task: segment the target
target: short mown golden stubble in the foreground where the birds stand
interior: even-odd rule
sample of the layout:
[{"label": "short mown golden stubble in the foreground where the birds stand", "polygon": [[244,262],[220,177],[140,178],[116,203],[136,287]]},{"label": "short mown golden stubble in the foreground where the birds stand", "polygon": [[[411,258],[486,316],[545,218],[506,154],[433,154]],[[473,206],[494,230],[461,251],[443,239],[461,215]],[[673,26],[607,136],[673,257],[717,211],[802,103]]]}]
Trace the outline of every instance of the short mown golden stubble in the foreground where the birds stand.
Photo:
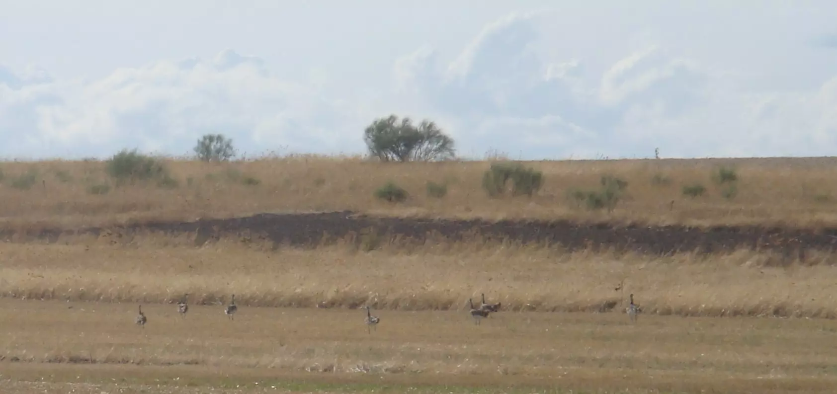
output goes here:
[{"label": "short mown golden stubble in the foreground where the birds stand", "polygon": [[629,325],[616,314],[501,312],[477,326],[464,311],[381,310],[369,335],[361,310],[245,307],[234,321],[221,306],[194,306],[185,319],[173,305],[143,310],[145,329],[133,325],[136,304],[0,300],[0,374],[10,378],[3,392],[276,386],[276,392],[784,394],[837,386],[833,320],[650,315]]}]

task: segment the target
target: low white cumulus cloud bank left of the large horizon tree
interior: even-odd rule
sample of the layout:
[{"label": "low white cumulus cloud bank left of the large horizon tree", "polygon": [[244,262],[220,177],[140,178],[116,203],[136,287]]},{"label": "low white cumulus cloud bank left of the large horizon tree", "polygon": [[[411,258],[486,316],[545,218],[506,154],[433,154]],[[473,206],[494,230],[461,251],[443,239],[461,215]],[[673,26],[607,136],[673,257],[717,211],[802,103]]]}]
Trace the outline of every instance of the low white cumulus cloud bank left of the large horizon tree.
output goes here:
[{"label": "low white cumulus cloud bank left of the large horizon tree", "polygon": [[355,135],[367,118],[229,49],[210,60],[116,69],[90,82],[0,73],[0,127],[12,131],[3,133],[7,156],[106,156],[133,147],[187,154],[210,132],[251,153],[360,151]]}]

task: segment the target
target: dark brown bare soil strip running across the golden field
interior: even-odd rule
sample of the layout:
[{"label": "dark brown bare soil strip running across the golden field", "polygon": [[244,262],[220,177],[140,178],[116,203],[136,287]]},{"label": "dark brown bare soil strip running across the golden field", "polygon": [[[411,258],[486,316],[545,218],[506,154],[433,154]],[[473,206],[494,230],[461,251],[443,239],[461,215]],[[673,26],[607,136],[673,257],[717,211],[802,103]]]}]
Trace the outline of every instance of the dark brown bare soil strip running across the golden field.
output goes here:
[{"label": "dark brown bare soil strip running across the golden field", "polygon": [[[345,238],[357,234],[357,242],[399,238],[402,242],[424,242],[427,238],[466,240],[479,235],[483,239],[506,239],[522,243],[548,243],[578,249],[611,249],[650,254],[676,252],[716,253],[737,248],[772,250],[788,258],[805,259],[805,251],[830,251],[837,245],[837,229],[813,230],[762,227],[716,227],[709,229],[684,226],[628,226],[579,224],[567,221],[502,221],[454,219],[416,219],[369,217],[352,212],[327,213],[264,213],[232,219],[209,219],[187,223],[142,223],[117,228],[83,228],[79,230],[39,230],[17,233],[0,229],[0,239],[21,236],[28,239],[58,240],[63,234],[100,235],[105,231],[130,235],[136,231],[163,233],[196,233],[196,244],[211,242],[223,236],[266,238],[276,245],[314,246],[323,238]],[[17,234],[16,234],[17,233]],[[363,241],[362,239],[366,239]]]}]

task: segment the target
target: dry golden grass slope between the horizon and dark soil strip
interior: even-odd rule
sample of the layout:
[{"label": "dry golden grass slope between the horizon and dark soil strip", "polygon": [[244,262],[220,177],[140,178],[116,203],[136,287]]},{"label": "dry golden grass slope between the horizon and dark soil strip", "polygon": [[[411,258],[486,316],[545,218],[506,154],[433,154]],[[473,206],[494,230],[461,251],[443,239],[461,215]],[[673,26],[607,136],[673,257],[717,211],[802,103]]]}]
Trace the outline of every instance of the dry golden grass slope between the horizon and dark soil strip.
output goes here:
[{"label": "dry golden grass slope between the horizon and dark soil strip", "polygon": [[[352,158],[292,156],[208,164],[168,160],[179,186],[111,187],[105,195],[90,187],[112,183],[99,161],[6,162],[0,186],[0,217],[6,226],[78,226],[128,220],[192,220],[254,212],[355,210],[397,216],[534,217],[634,223],[779,224],[822,227],[837,224],[837,192],[830,158],[747,160],[536,161],[545,185],[530,198],[490,199],[481,188],[486,161],[374,163]],[[735,166],[737,197],[721,197],[711,181],[717,166]],[[13,187],[32,172],[28,190]],[[570,201],[573,189],[598,187],[604,174],[629,182],[629,197],[612,213],[590,212]],[[670,179],[655,185],[656,175]],[[252,178],[258,185],[247,185]],[[410,193],[408,202],[377,201],[373,192],[388,180]],[[426,182],[447,182],[448,195],[427,197]],[[696,182],[706,196],[684,197]],[[252,183],[252,182],[251,182]],[[671,202],[674,201],[672,206]]]}]

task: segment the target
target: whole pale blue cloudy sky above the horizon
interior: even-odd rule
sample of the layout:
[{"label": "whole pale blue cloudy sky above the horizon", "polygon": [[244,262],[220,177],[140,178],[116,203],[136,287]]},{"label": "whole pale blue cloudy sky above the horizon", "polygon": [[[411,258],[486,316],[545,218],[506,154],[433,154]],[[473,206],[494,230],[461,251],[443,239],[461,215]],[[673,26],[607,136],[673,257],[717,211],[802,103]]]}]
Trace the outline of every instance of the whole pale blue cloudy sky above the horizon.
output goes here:
[{"label": "whole pale blue cloudy sky above the horizon", "polygon": [[0,157],[360,154],[390,114],[515,159],[831,156],[837,2],[0,0]]}]

